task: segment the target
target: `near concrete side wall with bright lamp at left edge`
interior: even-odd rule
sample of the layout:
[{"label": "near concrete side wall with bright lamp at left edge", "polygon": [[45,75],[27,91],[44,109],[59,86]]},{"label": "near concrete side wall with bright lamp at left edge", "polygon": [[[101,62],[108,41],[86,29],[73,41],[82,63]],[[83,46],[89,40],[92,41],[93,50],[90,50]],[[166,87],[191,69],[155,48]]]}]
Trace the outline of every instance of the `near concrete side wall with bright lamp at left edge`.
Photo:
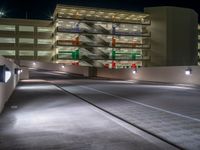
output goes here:
[{"label": "near concrete side wall with bright lamp at left edge", "polygon": [[0,65],[6,65],[11,71],[11,78],[8,80],[8,82],[7,83],[0,82],[0,113],[1,113],[4,104],[9,99],[10,95],[14,91],[19,81],[19,75],[15,74],[15,68],[18,68],[18,66],[2,56],[0,56]]}]

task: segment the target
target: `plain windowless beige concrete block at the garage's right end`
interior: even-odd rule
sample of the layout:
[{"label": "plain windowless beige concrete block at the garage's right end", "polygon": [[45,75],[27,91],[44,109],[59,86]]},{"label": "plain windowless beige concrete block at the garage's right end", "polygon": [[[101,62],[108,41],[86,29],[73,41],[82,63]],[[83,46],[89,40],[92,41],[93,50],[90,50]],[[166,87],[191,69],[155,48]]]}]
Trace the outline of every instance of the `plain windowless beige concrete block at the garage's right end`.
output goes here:
[{"label": "plain windowless beige concrete block at the garage's right end", "polygon": [[149,66],[197,65],[198,14],[186,8],[149,7],[151,63]]}]

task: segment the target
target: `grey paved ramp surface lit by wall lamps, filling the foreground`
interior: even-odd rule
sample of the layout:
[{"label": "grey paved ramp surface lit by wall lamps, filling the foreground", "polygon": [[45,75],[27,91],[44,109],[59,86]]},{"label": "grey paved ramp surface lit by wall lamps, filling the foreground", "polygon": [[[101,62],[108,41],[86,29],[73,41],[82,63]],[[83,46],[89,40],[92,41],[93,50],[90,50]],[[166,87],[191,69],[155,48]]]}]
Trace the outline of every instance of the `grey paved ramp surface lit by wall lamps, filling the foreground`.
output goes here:
[{"label": "grey paved ramp surface lit by wall lamps, filling the foreground", "polygon": [[200,149],[197,87],[31,77],[0,116],[0,149]]}]

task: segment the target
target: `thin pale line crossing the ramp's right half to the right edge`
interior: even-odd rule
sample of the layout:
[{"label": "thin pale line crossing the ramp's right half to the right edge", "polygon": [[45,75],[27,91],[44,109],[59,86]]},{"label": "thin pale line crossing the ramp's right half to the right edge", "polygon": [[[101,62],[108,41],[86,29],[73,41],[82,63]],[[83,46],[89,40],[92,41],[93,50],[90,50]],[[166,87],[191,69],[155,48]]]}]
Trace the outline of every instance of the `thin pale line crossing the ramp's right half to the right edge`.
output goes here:
[{"label": "thin pale line crossing the ramp's right half to the right edge", "polygon": [[89,89],[89,90],[93,90],[93,91],[97,91],[97,92],[100,92],[100,93],[103,93],[103,94],[106,94],[106,95],[109,95],[109,96],[113,96],[113,97],[116,97],[116,98],[120,98],[120,99],[126,100],[126,101],[131,102],[131,103],[135,103],[135,104],[142,105],[142,106],[145,106],[145,107],[148,107],[148,108],[152,108],[152,109],[156,109],[156,110],[159,110],[159,111],[162,111],[162,112],[165,112],[165,113],[169,113],[169,114],[172,114],[172,115],[176,115],[176,116],[179,116],[179,117],[183,117],[183,118],[186,118],[186,119],[191,119],[193,121],[200,122],[200,119],[197,119],[197,118],[193,118],[193,117],[190,117],[190,116],[185,116],[185,115],[182,115],[182,114],[179,114],[179,113],[175,113],[175,112],[171,112],[171,111],[168,111],[168,110],[165,110],[165,109],[162,109],[162,108],[158,108],[158,107],[154,107],[154,106],[147,105],[147,104],[144,104],[144,103],[136,102],[134,100],[131,100],[131,99],[128,99],[128,98],[124,98],[124,97],[121,97],[121,96],[117,96],[117,95],[113,95],[113,94],[110,94],[110,93],[107,93],[107,92],[103,92],[103,91],[100,91],[100,90],[97,90],[97,89],[94,89],[94,88],[90,88],[90,87],[87,87],[87,86],[79,86],[79,87],[82,87],[82,88],[85,88],[85,89]]}]

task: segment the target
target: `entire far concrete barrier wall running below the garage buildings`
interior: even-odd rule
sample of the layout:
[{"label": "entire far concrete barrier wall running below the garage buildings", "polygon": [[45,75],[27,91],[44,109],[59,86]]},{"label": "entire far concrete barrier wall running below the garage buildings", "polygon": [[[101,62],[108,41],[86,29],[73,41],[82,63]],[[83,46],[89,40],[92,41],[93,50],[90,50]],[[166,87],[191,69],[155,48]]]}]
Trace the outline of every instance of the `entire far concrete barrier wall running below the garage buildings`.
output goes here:
[{"label": "entire far concrete barrier wall running below the garage buildings", "polygon": [[91,71],[92,68],[80,66],[65,66],[62,64],[44,63],[34,61],[21,61],[21,66],[26,66],[35,69],[46,69],[54,71],[63,71],[84,76],[96,74],[97,77],[121,79],[121,80],[142,80],[154,82],[166,82],[177,84],[198,84],[200,85],[200,67],[190,66],[192,74],[185,75],[185,70],[188,66],[174,66],[174,67],[142,67],[138,69],[136,74],[132,73],[132,69],[105,69],[97,68],[96,73]]}]

